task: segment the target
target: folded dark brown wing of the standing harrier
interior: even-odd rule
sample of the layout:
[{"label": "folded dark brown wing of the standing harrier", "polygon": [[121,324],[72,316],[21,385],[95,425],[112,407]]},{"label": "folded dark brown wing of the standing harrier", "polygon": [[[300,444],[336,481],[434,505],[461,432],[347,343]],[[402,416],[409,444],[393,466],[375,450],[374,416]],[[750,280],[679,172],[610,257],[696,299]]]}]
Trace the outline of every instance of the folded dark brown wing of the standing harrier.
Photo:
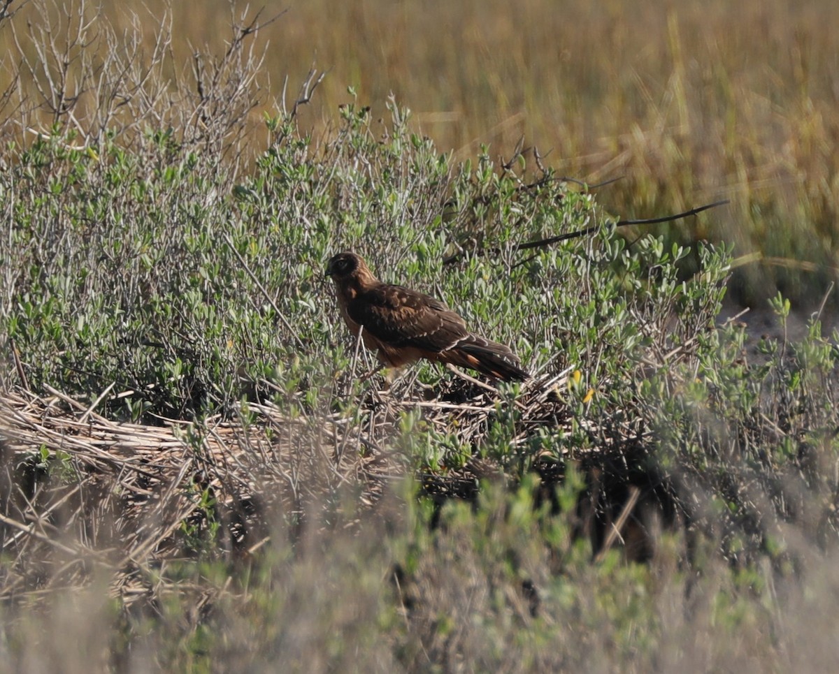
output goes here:
[{"label": "folded dark brown wing of the standing harrier", "polygon": [[469,334],[463,319],[440,300],[382,283],[347,303],[347,314],[390,347],[439,353]]}]

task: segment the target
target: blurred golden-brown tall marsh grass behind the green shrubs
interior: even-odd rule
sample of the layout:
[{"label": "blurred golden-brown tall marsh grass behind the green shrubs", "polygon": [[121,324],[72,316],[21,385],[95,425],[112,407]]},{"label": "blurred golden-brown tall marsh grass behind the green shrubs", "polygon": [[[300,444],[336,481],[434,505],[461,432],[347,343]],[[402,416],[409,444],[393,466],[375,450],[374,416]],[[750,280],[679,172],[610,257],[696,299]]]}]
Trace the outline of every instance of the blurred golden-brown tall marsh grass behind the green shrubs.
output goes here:
[{"label": "blurred golden-brown tall marsh grass behind the green shrubs", "polygon": [[[102,2],[117,26],[128,26],[132,12],[154,24],[167,7]],[[279,95],[285,75],[293,94],[313,64],[329,70],[301,111],[304,127],[331,123],[350,100],[348,86],[374,117],[385,115],[393,92],[420,132],[459,157],[481,143],[510,156],[524,136],[561,174],[590,183],[622,177],[598,195],[615,214],[650,217],[730,199],[675,236],[732,241],[739,256],[758,252],[763,261],[735,277],[741,299],[775,286],[804,297],[836,276],[835,3],[268,0],[263,18],[284,10],[259,40],[269,44],[270,94]],[[170,11],[175,64],[189,67],[205,44],[224,48],[225,0]]]}]

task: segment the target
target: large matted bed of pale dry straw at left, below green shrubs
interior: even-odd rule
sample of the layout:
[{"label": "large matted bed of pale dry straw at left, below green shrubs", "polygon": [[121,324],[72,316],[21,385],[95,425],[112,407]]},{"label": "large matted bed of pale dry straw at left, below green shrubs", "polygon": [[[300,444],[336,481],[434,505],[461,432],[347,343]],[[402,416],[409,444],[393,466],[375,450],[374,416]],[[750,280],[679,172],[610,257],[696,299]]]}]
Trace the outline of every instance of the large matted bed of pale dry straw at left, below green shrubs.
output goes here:
[{"label": "large matted bed of pale dry straw at left, below green shrubs", "polygon": [[308,505],[347,485],[360,490],[359,507],[373,505],[400,472],[387,454],[357,451],[360,429],[339,416],[312,423],[253,403],[250,423],[149,426],[94,407],[55,390],[0,401],[3,551],[16,558],[4,567],[3,599],[84,584],[92,565],[132,604],[149,590],[138,571],[195,554],[203,537],[248,557],[274,518],[301,526]]}]

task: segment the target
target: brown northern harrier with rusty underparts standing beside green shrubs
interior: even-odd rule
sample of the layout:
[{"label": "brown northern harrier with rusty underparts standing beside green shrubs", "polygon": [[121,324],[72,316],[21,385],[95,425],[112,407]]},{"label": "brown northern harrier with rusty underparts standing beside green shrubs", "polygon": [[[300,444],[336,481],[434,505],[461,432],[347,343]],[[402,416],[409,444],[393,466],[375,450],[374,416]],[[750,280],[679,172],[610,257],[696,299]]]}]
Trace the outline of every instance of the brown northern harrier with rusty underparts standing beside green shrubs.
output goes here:
[{"label": "brown northern harrier with rusty underparts standing beside green shrubs", "polygon": [[338,253],[326,266],[335,282],[338,307],[352,334],[362,333],[390,367],[427,358],[477,370],[493,379],[524,381],[527,372],[507,346],[466,329],[460,316],[439,300],[409,288],[381,283],[361,257]]}]

